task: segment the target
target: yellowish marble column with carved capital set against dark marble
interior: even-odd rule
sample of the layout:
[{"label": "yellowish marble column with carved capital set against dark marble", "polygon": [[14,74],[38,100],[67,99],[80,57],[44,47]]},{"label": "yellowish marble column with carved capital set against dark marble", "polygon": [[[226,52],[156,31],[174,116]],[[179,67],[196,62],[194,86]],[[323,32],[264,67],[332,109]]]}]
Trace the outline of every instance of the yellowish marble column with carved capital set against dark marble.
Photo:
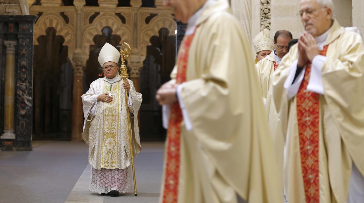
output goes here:
[{"label": "yellowish marble column with carved capital set against dark marble", "polygon": [[17,41],[4,41],[6,47],[5,62],[5,102],[4,134],[1,139],[15,139],[14,103],[15,103],[15,47]]}]

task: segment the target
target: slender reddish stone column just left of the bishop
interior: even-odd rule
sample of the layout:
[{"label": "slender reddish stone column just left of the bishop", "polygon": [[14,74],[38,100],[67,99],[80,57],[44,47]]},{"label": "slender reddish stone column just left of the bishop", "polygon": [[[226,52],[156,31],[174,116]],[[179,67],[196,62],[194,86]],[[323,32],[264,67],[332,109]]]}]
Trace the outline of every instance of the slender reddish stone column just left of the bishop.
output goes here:
[{"label": "slender reddish stone column just left of the bishop", "polygon": [[73,57],[73,100],[72,100],[72,141],[82,141],[83,129],[83,107],[81,96],[83,94],[83,72],[86,67],[86,60],[82,55],[82,8],[85,4],[84,0],[75,0],[74,5],[77,11],[76,21],[76,50]]}]

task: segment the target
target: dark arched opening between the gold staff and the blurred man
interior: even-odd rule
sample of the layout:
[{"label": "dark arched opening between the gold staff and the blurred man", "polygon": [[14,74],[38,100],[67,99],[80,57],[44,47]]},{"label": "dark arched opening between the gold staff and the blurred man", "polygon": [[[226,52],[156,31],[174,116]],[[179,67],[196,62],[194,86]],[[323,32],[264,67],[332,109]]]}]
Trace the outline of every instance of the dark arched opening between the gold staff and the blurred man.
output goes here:
[{"label": "dark arched opening between the gold staff and the blurred man", "polygon": [[147,55],[140,72],[143,103],[140,110],[141,140],[165,140],[162,127],[161,106],[155,100],[158,88],[170,80],[175,65],[176,36],[170,36],[167,28],[161,28],[158,36],[150,38]]}]

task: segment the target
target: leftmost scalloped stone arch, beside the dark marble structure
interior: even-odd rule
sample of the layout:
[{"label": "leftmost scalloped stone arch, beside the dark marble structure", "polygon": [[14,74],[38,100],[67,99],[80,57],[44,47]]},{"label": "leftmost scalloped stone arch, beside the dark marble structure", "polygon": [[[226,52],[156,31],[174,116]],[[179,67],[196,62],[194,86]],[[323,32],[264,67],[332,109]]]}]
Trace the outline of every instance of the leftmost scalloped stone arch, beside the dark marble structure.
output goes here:
[{"label": "leftmost scalloped stone arch, beside the dark marble structure", "polygon": [[75,51],[75,35],[72,27],[66,24],[66,21],[54,13],[46,13],[39,17],[34,25],[34,45],[39,45],[37,39],[41,35],[47,35],[47,28],[52,27],[56,30],[56,34],[64,38],[64,46],[68,46],[68,58],[72,61]]}]

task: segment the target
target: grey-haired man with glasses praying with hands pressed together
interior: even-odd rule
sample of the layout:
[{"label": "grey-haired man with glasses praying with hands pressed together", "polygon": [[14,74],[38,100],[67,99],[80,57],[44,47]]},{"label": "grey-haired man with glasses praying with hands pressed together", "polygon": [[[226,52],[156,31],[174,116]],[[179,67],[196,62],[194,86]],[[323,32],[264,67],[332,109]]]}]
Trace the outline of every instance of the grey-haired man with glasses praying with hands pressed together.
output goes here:
[{"label": "grey-haired man with glasses praying with hands pressed together", "polygon": [[364,44],[332,10],[301,0],[306,31],[272,78],[288,202],[364,202]]}]

